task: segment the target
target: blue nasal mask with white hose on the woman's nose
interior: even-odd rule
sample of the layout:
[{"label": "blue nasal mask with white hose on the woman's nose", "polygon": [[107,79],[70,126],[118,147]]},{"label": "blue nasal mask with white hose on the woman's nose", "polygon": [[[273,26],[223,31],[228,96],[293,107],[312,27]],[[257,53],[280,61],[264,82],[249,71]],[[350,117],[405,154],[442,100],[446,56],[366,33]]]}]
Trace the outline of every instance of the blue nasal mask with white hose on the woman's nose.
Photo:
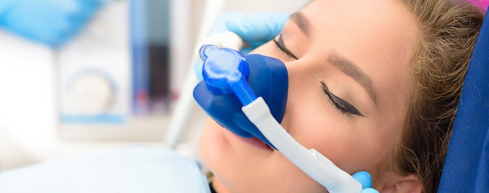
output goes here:
[{"label": "blue nasal mask with white hose on the woman's nose", "polygon": [[[240,49],[243,44],[232,32],[211,36],[210,42],[219,37],[223,41],[217,43],[220,46]],[[241,137],[258,137],[331,193],[372,191],[370,186],[362,187],[368,183],[358,182],[318,151],[304,148],[280,125],[287,105],[289,78],[284,63],[258,54],[244,56],[235,49],[210,44],[199,50],[204,61],[204,80],[195,87],[194,98],[217,123]]]}]

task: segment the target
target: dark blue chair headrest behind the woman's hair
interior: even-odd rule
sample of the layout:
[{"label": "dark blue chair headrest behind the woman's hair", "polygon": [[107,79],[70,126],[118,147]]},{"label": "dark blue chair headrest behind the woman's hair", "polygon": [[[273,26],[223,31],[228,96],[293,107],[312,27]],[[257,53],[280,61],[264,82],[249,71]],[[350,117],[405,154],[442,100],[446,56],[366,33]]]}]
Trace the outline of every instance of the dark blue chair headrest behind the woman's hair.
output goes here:
[{"label": "dark blue chair headrest behind the woman's hair", "polygon": [[462,89],[439,193],[489,193],[489,13]]}]

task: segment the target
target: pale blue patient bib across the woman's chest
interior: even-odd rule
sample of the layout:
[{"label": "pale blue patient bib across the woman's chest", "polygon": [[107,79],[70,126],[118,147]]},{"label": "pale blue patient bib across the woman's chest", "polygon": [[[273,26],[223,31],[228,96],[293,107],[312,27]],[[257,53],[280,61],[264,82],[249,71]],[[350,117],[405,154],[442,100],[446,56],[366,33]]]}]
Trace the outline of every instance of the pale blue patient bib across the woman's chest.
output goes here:
[{"label": "pale blue patient bib across the woman's chest", "polygon": [[197,162],[133,146],[0,172],[0,193],[210,193]]}]

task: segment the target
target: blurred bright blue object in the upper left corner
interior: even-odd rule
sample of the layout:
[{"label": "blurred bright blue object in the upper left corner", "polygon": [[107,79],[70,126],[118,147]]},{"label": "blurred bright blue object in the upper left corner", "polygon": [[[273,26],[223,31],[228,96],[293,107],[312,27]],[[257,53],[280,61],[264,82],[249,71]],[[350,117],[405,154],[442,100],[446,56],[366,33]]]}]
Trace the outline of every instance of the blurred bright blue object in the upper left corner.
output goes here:
[{"label": "blurred bright blue object in the upper left corner", "polygon": [[0,0],[0,26],[57,47],[76,35],[104,0]]}]

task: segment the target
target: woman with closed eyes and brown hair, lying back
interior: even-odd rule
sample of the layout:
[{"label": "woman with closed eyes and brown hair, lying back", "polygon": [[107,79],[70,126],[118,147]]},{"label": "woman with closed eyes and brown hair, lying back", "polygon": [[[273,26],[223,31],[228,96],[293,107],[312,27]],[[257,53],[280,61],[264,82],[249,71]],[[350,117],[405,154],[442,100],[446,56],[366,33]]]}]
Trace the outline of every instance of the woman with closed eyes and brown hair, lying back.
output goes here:
[{"label": "woman with closed eyes and brown hair, lying back", "polygon": [[[282,125],[380,192],[436,192],[483,13],[450,0],[314,0],[252,53],[282,60]],[[209,119],[200,151],[225,192],[326,192],[280,152]]]}]

